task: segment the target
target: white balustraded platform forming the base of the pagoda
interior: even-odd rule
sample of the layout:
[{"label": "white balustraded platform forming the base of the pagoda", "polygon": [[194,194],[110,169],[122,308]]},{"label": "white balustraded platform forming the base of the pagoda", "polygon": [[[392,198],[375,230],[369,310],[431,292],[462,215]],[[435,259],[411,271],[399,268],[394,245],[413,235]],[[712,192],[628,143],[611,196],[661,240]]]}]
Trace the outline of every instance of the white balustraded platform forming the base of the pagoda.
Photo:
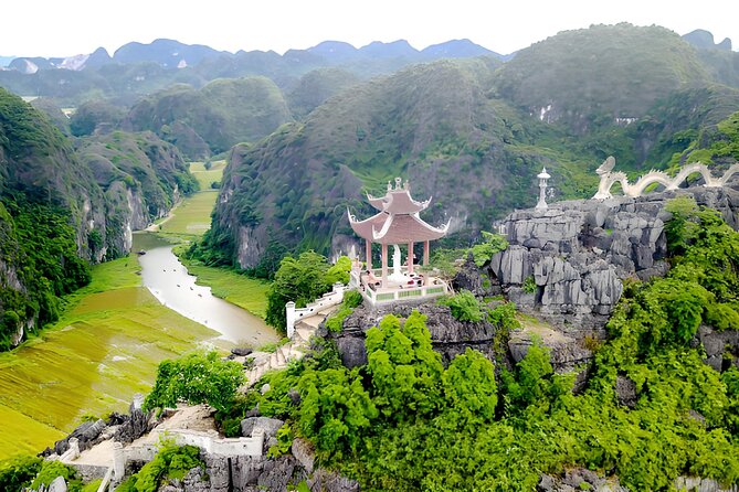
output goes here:
[{"label": "white balustraded platform forming the base of the pagoda", "polygon": [[448,285],[439,277],[427,272],[409,272],[401,268],[401,277],[390,276],[382,281],[382,269],[360,270],[352,268],[349,272],[349,288],[357,289],[372,306],[387,302],[415,301],[432,299],[448,292]]}]

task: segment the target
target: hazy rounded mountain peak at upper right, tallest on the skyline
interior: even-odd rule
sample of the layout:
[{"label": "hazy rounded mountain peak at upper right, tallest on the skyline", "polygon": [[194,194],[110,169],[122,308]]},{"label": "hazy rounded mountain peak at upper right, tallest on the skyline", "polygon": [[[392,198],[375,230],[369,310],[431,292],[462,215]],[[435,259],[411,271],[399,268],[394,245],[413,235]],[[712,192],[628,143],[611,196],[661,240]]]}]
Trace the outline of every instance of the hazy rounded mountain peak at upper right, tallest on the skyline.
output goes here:
[{"label": "hazy rounded mountain peak at upper right, tallest on the skyline", "polygon": [[594,25],[521,50],[496,81],[498,93],[546,121],[582,133],[638,118],[671,92],[709,81],[696,50],[664,28]]}]

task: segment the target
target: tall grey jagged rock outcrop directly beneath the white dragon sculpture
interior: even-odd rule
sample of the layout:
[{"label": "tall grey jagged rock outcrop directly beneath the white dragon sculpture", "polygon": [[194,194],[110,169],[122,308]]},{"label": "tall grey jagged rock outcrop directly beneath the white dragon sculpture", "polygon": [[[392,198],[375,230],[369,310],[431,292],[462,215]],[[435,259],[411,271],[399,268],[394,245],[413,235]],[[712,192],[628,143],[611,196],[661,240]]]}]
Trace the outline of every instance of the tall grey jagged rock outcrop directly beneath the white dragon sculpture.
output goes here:
[{"label": "tall grey jagged rock outcrop directly beneath the white dragon sculpture", "polygon": [[664,275],[668,265],[665,204],[692,194],[739,226],[739,192],[693,188],[641,197],[570,201],[526,210],[504,222],[510,246],[493,257],[489,275],[519,309],[564,333],[604,336],[602,327],[621,298],[622,280]]}]

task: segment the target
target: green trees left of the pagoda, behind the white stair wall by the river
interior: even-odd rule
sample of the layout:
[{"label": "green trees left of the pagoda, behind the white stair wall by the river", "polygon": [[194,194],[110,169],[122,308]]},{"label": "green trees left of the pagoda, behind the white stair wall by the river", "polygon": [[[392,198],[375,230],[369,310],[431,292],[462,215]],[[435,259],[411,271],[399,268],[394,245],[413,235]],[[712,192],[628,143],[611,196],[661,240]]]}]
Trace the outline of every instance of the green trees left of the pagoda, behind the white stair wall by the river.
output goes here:
[{"label": "green trees left of the pagoda, behind the white stair wall by the river", "polygon": [[295,302],[297,308],[305,308],[324,293],[331,290],[335,282],[347,284],[351,260],[346,256],[336,265],[329,265],[325,257],[315,252],[306,252],[293,258],[287,256],[279,264],[275,279],[267,292],[267,324],[277,331],[285,330],[285,304]]}]

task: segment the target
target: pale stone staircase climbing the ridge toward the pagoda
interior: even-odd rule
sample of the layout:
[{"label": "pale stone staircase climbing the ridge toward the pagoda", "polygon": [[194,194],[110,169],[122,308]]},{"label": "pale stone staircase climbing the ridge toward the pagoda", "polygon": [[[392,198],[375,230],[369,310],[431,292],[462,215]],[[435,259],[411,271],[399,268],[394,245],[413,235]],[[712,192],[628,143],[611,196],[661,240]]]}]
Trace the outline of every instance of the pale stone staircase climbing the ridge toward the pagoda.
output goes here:
[{"label": "pale stone staircase climbing the ridge toward the pagoda", "polygon": [[246,387],[252,387],[268,371],[285,368],[291,361],[302,359],[308,350],[310,336],[335,309],[336,306],[331,306],[295,323],[291,341],[278,346],[275,352],[253,352],[251,356],[254,357],[254,367],[246,372]]}]

